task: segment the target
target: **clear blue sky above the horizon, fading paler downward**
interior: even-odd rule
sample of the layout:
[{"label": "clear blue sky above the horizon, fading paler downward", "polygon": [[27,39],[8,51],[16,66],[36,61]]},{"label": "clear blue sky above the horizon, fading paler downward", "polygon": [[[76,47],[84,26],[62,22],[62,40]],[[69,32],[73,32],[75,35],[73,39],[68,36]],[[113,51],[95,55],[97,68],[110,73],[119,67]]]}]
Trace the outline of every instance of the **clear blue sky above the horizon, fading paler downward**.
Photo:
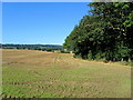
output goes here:
[{"label": "clear blue sky above the horizon, fading paler downward", "polygon": [[89,2],[4,2],[2,43],[62,44]]}]

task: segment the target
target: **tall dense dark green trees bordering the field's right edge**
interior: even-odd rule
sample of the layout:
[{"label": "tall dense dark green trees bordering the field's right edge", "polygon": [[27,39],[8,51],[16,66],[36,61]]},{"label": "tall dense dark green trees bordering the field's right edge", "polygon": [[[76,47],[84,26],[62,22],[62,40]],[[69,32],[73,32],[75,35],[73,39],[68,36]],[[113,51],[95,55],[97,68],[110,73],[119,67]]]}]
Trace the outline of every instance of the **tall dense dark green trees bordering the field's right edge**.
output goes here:
[{"label": "tall dense dark green trees bordering the field's right edge", "polygon": [[91,10],[66,37],[63,48],[74,57],[133,61],[133,1],[92,2]]}]

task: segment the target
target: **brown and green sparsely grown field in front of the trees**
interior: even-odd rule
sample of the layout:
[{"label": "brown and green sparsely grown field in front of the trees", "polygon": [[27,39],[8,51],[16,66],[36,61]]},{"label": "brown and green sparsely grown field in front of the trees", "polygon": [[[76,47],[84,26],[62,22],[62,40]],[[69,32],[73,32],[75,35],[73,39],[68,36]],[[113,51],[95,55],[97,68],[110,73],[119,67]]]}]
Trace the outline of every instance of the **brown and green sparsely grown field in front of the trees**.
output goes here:
[{"label": "brown and green sparsely grown field in front of the trees", "polygon": [[2,50],[3,98],[130,98],[131,68],[70,53]]}]

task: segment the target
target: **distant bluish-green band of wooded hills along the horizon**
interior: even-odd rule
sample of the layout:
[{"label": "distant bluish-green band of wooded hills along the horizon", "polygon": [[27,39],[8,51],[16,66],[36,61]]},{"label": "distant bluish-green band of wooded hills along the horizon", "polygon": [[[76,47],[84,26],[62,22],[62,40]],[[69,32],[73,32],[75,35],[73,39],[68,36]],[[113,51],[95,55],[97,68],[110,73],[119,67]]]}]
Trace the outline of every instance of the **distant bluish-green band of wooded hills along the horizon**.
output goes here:
[{"label": "distant bluish-green band of wooded hills along the horizon", "polygon": [[62,46],[58,44],[1,44],[2,49],[28,49],[28,50],[42,50],[42,51],[53,51],[63,50]]}]

